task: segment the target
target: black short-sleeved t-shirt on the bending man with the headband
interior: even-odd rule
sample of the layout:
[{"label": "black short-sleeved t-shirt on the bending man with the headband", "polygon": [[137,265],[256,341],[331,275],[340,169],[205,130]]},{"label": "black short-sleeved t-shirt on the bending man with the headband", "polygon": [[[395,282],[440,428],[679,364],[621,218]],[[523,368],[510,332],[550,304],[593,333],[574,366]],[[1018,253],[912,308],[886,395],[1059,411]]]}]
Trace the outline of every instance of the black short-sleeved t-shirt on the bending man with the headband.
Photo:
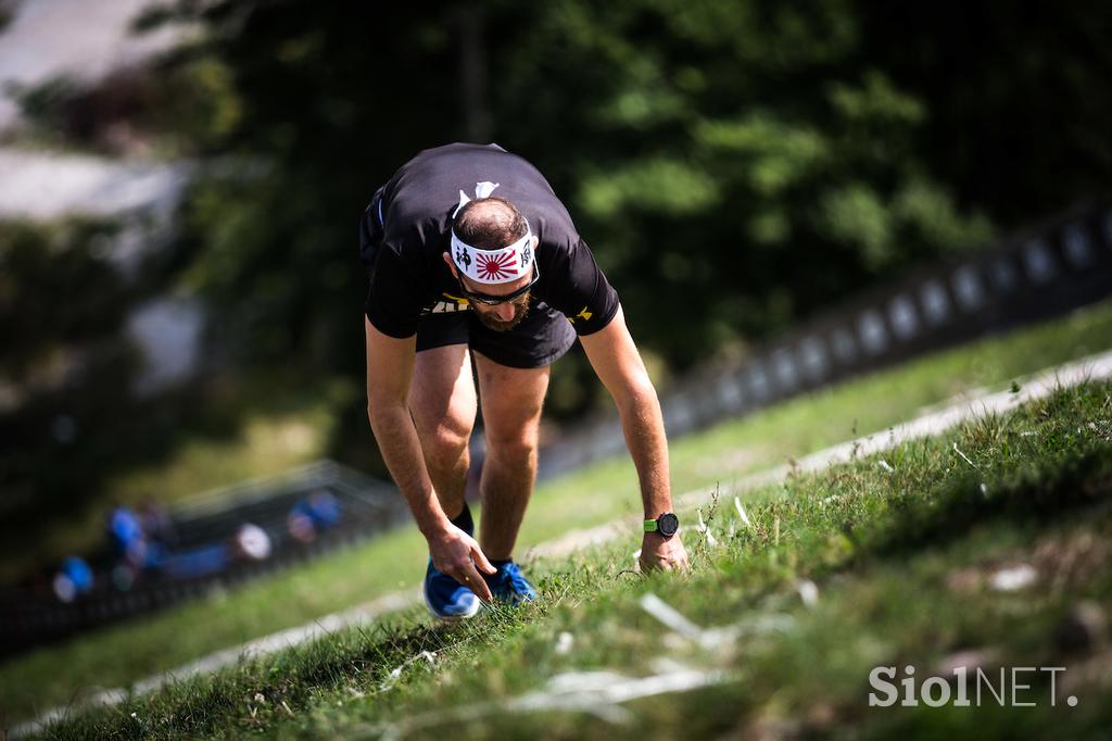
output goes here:
[{"label": "black short-sleeved t-shirt on the bending man with the headband", "polygon": [[609,324],[617,293],[537,168],[497,145],[453,144],[403,165],[363,215],[360,247],[371,276],[366,312],[375,328],[411,337],[421,315],[466,305],[441,255],[448,251],[459,191],[474,198],[483,181],[499,184],[492,195],[514,204],[540,240],[540,279],[533,295],[563,313],[580,335]]}]

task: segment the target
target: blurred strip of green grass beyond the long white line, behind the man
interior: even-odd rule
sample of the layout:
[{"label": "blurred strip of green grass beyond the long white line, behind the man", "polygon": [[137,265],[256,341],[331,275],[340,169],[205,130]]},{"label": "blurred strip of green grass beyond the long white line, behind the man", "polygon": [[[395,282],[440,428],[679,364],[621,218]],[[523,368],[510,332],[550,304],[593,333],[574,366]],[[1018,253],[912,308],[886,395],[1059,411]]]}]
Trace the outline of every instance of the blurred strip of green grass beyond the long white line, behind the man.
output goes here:
[{"label": "blurred strip of green grass beyond the long white line, behind the man", "polygon": [[[963,391],[1112,346],[1112,303],[811,394],[672,445],[676,493],[801,456],[855,432],[881,431]],[[639,512],[626,460],[538,486],[522,547]],[[631,543],[634,539],[631,539]],[[632,551],[633,545],[624,545]],[[626,554],[627,556],[628,554]],[[625,556],[624,556],[625,557]],[[631,560],[632,562],[632,560]],[[37,650],[0,666],[9,719],[64,703],[79,688],[120,686],[212,651],[306,623],[401,587],[416,587],[424,543],[413,528],[298,566],[230,594]],[[197,625],[205,630],[197,630]]]}]

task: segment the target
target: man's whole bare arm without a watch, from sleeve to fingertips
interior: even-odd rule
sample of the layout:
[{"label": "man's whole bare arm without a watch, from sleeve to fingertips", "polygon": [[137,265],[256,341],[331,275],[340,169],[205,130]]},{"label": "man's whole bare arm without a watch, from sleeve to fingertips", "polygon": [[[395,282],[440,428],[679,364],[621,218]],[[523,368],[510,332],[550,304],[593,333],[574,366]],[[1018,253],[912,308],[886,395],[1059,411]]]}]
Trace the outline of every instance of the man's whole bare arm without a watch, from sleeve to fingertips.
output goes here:
[{"label": "man's whole bare arm without a watch, from sleeve to fingertips", "polygon": [[[409,504],[417,527],[429,544],[437,569],[489,601],[490,591],[476,571],[495,567],[478,543],[451,524],[437,500],[425,467],[407,396],[414,374],[416,337],[385,335],[364,317],[367,330],[367,416],[390,475]],[[473,563],[473,560],[475,563]]]}]

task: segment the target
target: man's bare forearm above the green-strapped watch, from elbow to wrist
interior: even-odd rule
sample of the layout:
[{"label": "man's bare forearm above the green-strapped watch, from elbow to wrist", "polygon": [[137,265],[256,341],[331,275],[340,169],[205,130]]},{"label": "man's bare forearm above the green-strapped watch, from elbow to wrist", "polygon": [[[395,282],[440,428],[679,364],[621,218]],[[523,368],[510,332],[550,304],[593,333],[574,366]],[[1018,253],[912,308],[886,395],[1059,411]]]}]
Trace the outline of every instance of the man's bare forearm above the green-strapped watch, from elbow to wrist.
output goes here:
[{"label": "man's bare forearm above the green-strapped watch, from elbow to wrist", "polygon": [[616,399],[629,456],[637,468],[645,517],[672,511],[672,485],[668,481],[668,441],[656,391],[648,386]]}]

